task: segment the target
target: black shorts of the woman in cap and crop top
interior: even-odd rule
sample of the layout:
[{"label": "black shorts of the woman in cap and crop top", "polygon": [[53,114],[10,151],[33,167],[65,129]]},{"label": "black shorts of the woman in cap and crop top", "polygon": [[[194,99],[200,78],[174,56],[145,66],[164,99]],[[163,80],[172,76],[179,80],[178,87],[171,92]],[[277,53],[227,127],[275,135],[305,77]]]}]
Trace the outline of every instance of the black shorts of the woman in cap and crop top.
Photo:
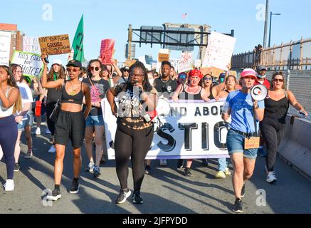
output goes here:
[{"label": "black shorts of the woman in cap and crop top", "polygon": [[67,145],[71,140],[73,148],[83,145],[85,135],[85,118],[83,112],[71,113],[60,110],[55,125],[55,142]]}]

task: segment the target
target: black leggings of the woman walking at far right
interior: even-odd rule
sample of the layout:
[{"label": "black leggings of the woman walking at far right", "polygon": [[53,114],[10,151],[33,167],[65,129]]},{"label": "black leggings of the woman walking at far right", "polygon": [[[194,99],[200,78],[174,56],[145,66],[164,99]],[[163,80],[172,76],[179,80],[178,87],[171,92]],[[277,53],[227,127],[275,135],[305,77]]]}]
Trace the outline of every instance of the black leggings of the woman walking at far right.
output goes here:
[{"label": "black leggings of the woman walking at far right", "polygon": [[268,149],[265,163],[268,172],[272,172],[278,152],[278,145],[280,145],[280,140],[285,135],[285,124],[278,122],[277,119],[269,118],[268,121],[260,122],[260,131]]}]

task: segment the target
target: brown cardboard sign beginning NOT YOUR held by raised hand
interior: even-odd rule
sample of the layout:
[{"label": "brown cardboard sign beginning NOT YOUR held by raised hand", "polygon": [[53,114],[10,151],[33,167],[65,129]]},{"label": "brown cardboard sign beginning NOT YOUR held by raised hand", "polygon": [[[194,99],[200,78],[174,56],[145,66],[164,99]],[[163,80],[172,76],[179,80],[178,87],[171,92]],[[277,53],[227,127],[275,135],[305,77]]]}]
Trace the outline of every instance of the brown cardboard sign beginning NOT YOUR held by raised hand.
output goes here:
[{"label": "brown cardboard sign beginning NOT YOUR held by raised hand", "polygon": [[60,55],[70,53],[70,42],[68,34],[56,36],[39,37],[41,53],[46,55]]}]

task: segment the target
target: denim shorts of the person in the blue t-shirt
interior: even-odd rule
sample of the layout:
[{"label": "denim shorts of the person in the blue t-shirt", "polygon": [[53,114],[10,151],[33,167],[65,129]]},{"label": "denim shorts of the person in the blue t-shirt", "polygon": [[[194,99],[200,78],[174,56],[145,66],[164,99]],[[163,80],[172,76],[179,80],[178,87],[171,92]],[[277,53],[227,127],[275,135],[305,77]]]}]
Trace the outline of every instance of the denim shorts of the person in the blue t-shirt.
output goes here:
[{"label": "denim shorts of the person in the blue t-shirt", "polygon": [[241,152],[243,153],[244,157],[255,160],[257,157],[258,148],[244,150],[244,139],[245,137],[243,135],[240,135],[233,130],[228,130],[227,148],[229,155],[232,155],[236,152]]}]

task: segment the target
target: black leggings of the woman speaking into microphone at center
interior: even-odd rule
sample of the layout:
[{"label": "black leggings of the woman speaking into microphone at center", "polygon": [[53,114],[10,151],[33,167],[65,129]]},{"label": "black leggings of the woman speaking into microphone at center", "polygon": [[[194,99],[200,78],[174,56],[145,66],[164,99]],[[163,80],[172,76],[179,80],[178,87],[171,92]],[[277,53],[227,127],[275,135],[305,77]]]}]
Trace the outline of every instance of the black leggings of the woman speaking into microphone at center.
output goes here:
[{"label": "black leggings of the woman speaking into microphone at center", "polygon": [[149,151],[153,134],[153,125],[142,130],[127,128],[122,124],[117,125],[115,163],[122,189],[127,189],[128,164],[131,157],[134,190],[140,191],[142,180],[144,180],[144,159]]}]

